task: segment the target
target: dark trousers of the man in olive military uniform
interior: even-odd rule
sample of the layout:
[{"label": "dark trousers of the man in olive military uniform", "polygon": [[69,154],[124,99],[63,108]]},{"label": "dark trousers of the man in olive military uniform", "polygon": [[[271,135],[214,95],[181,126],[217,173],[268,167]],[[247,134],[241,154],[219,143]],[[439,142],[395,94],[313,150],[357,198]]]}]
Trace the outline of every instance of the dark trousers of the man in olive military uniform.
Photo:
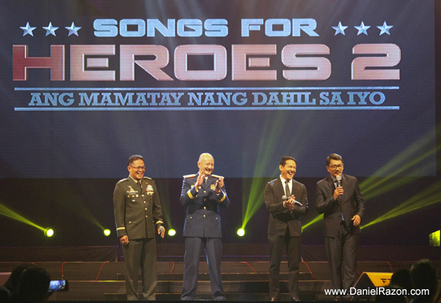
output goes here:
[{"label": "dark trousers of the man in olive military uniform", "polygon": [[138,275],[141,268],[143,280],[143,297],[145,300],[156,300],[156,239],[129,240],[123,245],[125,260],[125,293],[127,300],[138,300]]}]

